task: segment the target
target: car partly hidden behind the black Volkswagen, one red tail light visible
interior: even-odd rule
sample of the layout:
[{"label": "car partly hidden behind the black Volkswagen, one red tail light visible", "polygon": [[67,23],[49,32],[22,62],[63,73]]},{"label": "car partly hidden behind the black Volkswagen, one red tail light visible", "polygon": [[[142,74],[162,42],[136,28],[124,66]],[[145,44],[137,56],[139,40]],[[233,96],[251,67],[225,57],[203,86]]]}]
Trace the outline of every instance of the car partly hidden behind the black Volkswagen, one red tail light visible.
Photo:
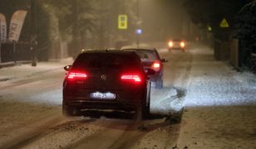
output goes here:
[{"label": "car partly hidden behind the black Volkswagen, one red tail light visible", "polygon": [[145,70],[155,70],[155,74],[149,74],[152,86],[155,86],[156,89],[163,87],[163,62],[167,62],[168,60],[160,59],[160,55],[155,48],[122,48],[122,50],[135,51],[136,54],[140,56],[141,63]]}]

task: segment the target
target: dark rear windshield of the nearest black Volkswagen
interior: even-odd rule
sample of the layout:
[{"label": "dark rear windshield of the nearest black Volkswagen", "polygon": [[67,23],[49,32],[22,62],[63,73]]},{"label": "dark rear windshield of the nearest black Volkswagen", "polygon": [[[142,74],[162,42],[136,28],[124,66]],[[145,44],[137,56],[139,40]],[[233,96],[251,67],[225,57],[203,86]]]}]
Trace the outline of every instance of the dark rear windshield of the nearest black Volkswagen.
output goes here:
[{"label": "dark rear windshield of the nearest black Volkswagen", "polygon": [[73,68],[89,69],[124,69],[140,67],[139,58],[132,55],[113,53],[86,53],[79,55],[74,62]]}]

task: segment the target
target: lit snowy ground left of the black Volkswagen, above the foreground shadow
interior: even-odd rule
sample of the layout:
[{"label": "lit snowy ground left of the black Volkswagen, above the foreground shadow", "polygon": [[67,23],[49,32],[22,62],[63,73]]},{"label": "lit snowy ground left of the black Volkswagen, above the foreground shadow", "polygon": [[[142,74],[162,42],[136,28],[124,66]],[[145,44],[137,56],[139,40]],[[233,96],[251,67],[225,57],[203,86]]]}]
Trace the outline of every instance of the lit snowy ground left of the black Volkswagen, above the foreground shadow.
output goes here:
[{"label": "lit snowy ground left of the black Volkswagen, above the foreground shadow", "polygon": [[[62,68],[65,65],[71,65],[72,61],[71,58],[67,58],[60,61],[38,62],[36,67],[15,65],[2,68],[0,69],[0,97],[25,103],[32,101],[32,103],[44,103],[50,106],[61,105],[62,78],[65,73]],[[12,90],[8,86],[12,87]]]}]

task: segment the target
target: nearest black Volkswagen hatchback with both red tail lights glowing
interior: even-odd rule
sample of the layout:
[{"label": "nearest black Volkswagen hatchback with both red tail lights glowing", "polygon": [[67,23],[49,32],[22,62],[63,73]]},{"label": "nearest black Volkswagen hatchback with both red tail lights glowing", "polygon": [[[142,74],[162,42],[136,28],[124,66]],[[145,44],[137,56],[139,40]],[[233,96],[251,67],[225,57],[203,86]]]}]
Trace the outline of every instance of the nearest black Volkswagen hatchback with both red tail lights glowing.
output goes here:
[{"label": "nearest black Volkswagen hatchback with both red tail lights glowing", "polygon": [[64,69],[68,71],[62,101],[66,116],[90,114],[90,110],[121,110],[142,117],[150,113],[150,80],[135,52],[84,50]]}]

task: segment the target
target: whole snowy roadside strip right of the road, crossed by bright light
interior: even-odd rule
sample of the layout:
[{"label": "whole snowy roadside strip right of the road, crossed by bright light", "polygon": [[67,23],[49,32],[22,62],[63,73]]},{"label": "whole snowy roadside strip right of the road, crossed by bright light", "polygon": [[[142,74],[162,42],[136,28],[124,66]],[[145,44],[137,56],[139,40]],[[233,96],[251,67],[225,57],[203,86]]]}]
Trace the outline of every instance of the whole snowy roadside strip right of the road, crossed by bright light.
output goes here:
[{"label": "whole snowy roadside strip right of the road, crossed by bright light", "polygon": [[193,55],[178,147],[255,148],[255,75],[214,60],[206,47]]}]

